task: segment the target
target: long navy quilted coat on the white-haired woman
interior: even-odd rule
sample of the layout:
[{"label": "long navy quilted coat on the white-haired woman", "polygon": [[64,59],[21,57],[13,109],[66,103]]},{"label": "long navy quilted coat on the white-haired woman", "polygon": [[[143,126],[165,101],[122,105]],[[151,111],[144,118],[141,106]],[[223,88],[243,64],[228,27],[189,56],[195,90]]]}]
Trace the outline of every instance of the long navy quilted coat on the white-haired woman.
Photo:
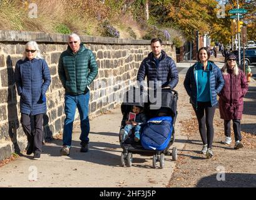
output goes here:
[{"label": "long navy quilted coat on the white-haired woman", "polygon": [[18,95],[21,96],[21,113],[46,113],[46,101],[42,101],[51,84],[51,75],[44,59],[28,58],[19,60],[15,66],[15,81]]}]

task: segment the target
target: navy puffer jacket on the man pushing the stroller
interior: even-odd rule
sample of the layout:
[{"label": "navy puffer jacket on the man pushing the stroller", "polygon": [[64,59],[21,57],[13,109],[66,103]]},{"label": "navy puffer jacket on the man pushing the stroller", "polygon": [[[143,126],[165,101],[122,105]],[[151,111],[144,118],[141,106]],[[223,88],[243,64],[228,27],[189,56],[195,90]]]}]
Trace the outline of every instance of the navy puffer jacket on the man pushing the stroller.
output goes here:
[{"label": "navy puffer jacket on the man pushing the stroller", "polygon": [[143,85],[143,81],[146,77],[148,87],[150,87],[148,81],[154,81],[154,87],[157,86],[156,81],[161,81],[162,87],[170,86],[170,88],[173,89],[178,84],[178,70],[176,64],[172,58],[167,56],[165,51],[161,51],[161,54],[161,60],[157,68],[153,60],[153,53],[148,54],[148,57],[145,58],[140,65],[137,81]]}]

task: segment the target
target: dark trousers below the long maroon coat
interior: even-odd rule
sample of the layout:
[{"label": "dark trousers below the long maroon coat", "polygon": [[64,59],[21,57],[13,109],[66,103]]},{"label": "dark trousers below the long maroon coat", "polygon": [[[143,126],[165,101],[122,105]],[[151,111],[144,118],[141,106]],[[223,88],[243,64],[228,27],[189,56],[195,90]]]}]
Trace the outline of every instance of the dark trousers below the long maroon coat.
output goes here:
[{"label": "dark trousers below the long maroon coat", "polygon": [[[230,137],[230,121],[231,120],[224,120],[224,129],[225,129],[225,136]],[[241,141],[241,124],[240,119],[233,119],[233,132],[235,134],[235,141]]]}]

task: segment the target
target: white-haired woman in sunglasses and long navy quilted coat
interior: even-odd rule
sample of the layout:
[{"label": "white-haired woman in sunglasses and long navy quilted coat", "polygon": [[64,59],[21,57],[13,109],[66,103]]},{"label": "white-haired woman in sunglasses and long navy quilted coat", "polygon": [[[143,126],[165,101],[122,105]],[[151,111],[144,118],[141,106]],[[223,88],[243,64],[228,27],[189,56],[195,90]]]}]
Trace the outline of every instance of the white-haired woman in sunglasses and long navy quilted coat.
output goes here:
[{"label": "white-haired woman in sunglasses and long navy quilted coat", "polygon": [[[21,124],[28,138],[27,154],[34,153],[34,159],[39,159],[42,152],[46,91],[51,83],[51,76],[36,42],[26,43],[24,58],[15,66],[15,81],[18,95],[21,96]],[[34,130],[31,129],[31,116]]]}]

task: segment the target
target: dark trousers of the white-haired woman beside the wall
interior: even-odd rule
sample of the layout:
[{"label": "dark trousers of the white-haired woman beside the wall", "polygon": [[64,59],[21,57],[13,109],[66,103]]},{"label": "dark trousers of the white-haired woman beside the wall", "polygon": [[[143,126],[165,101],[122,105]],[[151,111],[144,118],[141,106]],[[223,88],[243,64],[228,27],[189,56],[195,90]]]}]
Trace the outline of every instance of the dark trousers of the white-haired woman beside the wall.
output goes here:
[{"label": "dark trousers of the white-haired woman beside the wall", "polygon": [[32,145],[33,152],[41,154],[43,142],[43,114],[36,114],[33,116],[34,130],[31,128],[30,116],[21,113],[21,124],[23,131],[28,138],[29,145]]}]

